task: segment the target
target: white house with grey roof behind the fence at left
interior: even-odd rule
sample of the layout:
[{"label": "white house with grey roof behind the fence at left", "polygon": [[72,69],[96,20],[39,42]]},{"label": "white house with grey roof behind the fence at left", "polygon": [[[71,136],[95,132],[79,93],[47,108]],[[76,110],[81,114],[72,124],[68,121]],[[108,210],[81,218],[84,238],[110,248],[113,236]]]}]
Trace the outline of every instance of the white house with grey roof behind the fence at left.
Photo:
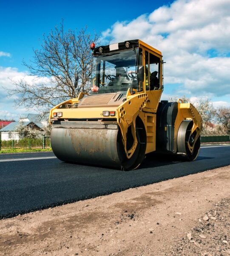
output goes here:
[{"label": "white house with grey roof behind the fence at left", "polygon": [[0,129],[2,140],[19,140],[20,134],[18,128],[20,126],[37,130],[38,133],[44,134],[45,127],[48,125],[47,120],[38,114],[28,114],[27,117],[20,118],[18,122],[10,122],[8,125]]}]

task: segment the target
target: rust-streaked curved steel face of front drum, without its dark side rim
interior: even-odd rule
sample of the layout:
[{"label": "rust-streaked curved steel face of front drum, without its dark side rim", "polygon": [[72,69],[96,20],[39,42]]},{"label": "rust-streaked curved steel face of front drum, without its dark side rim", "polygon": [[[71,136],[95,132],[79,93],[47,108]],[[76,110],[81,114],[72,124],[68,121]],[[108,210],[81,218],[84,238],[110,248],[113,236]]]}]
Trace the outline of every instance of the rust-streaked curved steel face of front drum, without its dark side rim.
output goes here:
[{"label": "rust-streaked curved steel face of front drum, without its dark side rim", "polygon": [[117,129],[63,128],[51,130],[51,147],[64,162],[121,166],[117,153]]}]

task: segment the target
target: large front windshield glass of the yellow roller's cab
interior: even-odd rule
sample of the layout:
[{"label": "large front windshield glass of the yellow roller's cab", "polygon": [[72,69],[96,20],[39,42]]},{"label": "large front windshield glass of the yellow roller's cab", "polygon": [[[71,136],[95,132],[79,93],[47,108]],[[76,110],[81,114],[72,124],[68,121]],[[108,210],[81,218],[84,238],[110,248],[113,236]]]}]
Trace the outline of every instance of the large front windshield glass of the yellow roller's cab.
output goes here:
[{"label": "large front windshield glass of the yellow roller's cab", "polygon": [[91,92],[114,93],[127,91],[132,87],[137,89],[136,63],[138,49],[125,50],[122,52],[97,55],[95,57],[95,68],[92,75]]}]

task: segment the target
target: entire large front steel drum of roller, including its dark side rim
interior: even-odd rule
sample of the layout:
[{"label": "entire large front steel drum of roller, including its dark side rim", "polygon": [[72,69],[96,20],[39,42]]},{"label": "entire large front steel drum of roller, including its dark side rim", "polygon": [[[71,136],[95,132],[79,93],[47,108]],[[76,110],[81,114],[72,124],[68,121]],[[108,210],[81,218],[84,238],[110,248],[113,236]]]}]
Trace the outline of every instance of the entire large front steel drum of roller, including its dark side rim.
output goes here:
[{"label": "entire large front steel drum of roller, including its dark side rim", "polygon": [[146,134],[136,119],[138,142],[131,158],[127,158],[117,124],[100,122],[57,122],[51,129],[51,147],[64,162],[106,166],[114,169],[136,169],[145,157]]}]

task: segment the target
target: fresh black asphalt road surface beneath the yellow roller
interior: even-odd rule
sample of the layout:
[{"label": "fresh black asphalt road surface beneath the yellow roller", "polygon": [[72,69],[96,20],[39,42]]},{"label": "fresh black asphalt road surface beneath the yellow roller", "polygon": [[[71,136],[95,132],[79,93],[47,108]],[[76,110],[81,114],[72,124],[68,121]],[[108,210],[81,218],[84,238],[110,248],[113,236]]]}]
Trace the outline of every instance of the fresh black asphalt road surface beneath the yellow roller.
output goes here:
[{"label": "fresh black asphalt road surface beneath the yellow roller", "polygon": [[205,146],[194,162],[148,154],[129,172],[63,163],[52,152],[0,154],[0,218],[230,165],[230,145]]}]

